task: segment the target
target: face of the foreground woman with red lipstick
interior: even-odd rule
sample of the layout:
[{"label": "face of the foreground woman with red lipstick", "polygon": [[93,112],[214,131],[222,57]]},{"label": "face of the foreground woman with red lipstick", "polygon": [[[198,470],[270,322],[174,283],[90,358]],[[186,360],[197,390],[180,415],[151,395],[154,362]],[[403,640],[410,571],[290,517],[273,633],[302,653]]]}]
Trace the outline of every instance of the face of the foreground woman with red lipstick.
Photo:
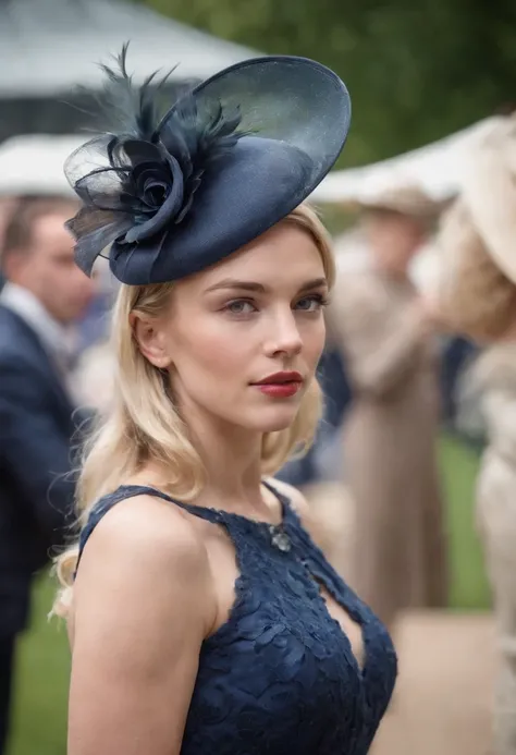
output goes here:
[{"label": "face of the foreground woman with red lipstick", "polygon": [[290,222],[179,281],[157,336],[183,415],[287,427],[323,349],[327,295],[316,244]]}]

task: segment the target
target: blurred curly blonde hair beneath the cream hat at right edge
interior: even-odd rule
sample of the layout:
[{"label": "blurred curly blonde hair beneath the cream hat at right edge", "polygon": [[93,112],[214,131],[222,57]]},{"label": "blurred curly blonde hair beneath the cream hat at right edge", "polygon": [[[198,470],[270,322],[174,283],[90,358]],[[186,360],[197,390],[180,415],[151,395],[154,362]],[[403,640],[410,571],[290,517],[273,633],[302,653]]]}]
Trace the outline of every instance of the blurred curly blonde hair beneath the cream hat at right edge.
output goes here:
[{"label": "blurred curly blonde hair beneath the cream hat at right edge", "polygon": [[496,266],[463,202],[443,219],[439,246],[443,319],[479,341],[497,340],[516,320],[516,285]]}]

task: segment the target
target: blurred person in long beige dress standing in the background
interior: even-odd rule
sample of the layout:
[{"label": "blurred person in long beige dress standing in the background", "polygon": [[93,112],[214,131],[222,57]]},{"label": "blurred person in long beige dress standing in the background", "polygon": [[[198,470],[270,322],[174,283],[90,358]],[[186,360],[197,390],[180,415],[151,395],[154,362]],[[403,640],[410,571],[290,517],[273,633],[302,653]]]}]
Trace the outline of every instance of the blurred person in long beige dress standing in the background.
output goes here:
[{"label": "blurred person in long beige dress standing in the background", "polygon": [[329,320],[354,389],[343,434],[355,500],[348,579],[389,625],[401,608],[446,599],[437,364],[430,319],[407,273],[423,220],[369,210],[366,232],[371,269],[342,277]]}]

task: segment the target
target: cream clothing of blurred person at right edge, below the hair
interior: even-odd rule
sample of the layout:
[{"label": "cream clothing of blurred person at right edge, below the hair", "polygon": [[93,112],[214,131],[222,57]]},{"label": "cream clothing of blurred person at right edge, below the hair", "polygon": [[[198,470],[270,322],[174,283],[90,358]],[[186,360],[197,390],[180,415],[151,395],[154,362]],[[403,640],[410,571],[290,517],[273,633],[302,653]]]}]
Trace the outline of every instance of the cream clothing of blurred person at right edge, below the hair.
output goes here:
[{"label": "cream clothing of blurred person at right edge, below the hair", "polygon": [[500,343],[478,360],[470,382],[480,395],[489,445],[477,480],[477,525],[493,590],[500,663],[495,740],[516,753],[516,343]]}]

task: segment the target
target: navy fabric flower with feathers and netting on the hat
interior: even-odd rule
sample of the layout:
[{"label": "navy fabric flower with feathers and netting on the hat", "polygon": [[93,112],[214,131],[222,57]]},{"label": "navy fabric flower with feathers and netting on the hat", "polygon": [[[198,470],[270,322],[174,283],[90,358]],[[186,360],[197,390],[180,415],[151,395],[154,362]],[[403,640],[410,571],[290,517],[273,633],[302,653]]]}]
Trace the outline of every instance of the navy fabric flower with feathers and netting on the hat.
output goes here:
[{"label": "navy fabric flower with feathers and netting on the hat", "polygon": [[[109,77],[106,94],[123,132],[91,139],[64,167],[84,203],[67,228],[77,240],[77,264],[87,275],[113,241],[126,253],[149,239],[159,244],[170,224],[181,223],[188,214],[204,173],[245,135],[238,131],[238,110],[228,111],[214,99],[205,100],[200,109],[197,100],[185,96],[159,121],[151,90],[155,74],[134,89],[126,52],[124,46],[118,58],[120,72],[103,66]],[[165,81],[167,76],[158,87]],[[93,166],[86,173],[85,163]]]}]

